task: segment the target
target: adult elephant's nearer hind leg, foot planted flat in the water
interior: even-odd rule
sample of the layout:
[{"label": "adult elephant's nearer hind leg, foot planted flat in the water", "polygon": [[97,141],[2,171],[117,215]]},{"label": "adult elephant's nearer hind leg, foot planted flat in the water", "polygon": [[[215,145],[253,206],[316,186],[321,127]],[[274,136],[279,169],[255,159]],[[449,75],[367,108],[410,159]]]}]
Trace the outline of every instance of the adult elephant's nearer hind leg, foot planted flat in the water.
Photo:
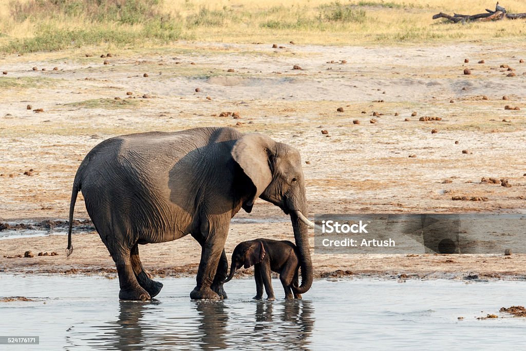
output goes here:
[{"label": "adult elephant's nearer hind leg, foot planted flat in the water", "polygon": [[119,275],[119,298],[122,300],[149,300],[150,294],[139,285],[131,265],[129,250],[119,250],[113,254]]}]

